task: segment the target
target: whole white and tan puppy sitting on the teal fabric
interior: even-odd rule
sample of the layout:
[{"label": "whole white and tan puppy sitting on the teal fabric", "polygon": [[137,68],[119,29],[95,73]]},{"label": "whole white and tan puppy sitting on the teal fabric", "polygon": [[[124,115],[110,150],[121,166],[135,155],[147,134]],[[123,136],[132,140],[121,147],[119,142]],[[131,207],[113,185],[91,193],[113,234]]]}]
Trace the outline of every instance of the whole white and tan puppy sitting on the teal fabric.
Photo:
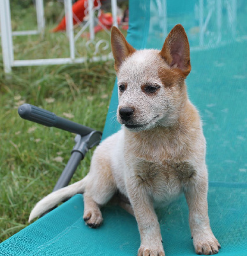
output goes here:
[{"label": "whole white and tan puppy sitting on the teal fabric", "polygon": [[140,232],[140,255],[165,255],[154,207],[184,193],[195,252],[218,253],[207,214],[206,141],[198,111],[186,93],[190,46],[183,26],[168,34],[161,51],[136,51],[112,28],[122,125],[96,148],[87,176],[43,198],[29,221],[65,198],[84,193],[84,220],[96,228],[100,206],[116,194],[130,200]]}]

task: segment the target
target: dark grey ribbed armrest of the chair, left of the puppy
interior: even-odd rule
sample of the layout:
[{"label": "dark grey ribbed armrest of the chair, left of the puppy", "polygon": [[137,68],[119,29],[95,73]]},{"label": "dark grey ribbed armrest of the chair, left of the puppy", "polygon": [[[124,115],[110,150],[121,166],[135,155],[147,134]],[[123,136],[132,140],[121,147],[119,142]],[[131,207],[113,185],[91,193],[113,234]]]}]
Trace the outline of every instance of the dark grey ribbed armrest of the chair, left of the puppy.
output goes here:
[{"label": "dark grey ribbed armrest of the chair, left of the puppy", "polygon": [[23,104],[22,106],[20,106],[18,108],[18,113],[21,118],[24,118],[26,120],[36,122],[38,124],[42,124],[48,127],[57,127],[64,131],[80,134],[81,136],[85,136],[90,132],[94,131],[94,129],[59,117],[50,111],[38,108],[31,104]]}]

